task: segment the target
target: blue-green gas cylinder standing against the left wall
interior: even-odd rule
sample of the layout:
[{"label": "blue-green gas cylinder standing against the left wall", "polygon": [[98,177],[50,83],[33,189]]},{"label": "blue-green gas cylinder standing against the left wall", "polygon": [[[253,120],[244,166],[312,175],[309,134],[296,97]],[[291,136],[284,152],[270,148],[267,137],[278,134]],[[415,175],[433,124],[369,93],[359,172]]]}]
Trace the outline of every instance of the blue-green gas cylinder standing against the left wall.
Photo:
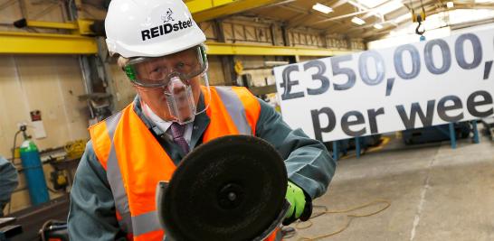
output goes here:
[{"label": "blue-green gas cylinder standing against the left wall", "polygon": [[35,206],[49,201],[38,147],[31,139],[25,139],[21,144],[20,153],[31,204]]}]

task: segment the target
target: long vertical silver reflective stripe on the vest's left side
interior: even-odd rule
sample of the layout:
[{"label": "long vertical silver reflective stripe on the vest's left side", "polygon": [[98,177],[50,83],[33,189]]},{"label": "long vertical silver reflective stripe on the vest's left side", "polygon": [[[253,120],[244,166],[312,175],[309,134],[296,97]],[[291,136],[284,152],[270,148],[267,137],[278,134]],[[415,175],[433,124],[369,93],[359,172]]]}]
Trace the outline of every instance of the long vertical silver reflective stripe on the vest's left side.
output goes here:
[{"label": "long vertical silver reflective stripe on the vest's left side", "polygon": [[109,181],[109,187],[115,200],[115,209],[119,211],[121,220],[119,225],[122,231],[125,233],[132,232],[132,220],[130,218],[130,211],[128,209],[128,197],[127,191],[123,185],[122,173],[120,172],[119,161],[117,160],[117,153],[115,152],[115,145],[113,144],[113,135],[119,125],[121,112],[115,116],[109,117],[105,122],[108,129],[109,139],[111,140],[109,156],[107,161],[107,178]]}]

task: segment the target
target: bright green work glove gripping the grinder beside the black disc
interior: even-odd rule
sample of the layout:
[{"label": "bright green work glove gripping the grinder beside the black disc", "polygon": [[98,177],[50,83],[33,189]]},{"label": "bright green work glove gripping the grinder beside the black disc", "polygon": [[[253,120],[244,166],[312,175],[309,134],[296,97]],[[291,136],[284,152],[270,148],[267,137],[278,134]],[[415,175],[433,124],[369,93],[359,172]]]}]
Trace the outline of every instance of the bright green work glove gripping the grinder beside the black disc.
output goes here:
[{"label": "bright green work glove gripping the grinder beside the black disc", "polygon": [[283,225],[289,225],[300,218],[305,209],[306,200],[304,191],[291,181],[288,182],[287,194],[285,198],[290,202],[290,209],[285,215]]}]

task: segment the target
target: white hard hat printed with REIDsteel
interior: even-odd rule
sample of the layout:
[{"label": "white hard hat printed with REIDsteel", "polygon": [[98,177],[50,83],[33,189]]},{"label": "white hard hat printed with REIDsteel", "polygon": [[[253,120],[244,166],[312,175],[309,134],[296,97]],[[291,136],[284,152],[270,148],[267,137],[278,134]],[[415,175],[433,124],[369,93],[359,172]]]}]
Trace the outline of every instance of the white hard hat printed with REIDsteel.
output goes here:
[{"label": "white hard hat printed with REIDsteel", "polygon": [[159,57],[205,42],[182,0],[113,0],[105,19],[110,53]]}]

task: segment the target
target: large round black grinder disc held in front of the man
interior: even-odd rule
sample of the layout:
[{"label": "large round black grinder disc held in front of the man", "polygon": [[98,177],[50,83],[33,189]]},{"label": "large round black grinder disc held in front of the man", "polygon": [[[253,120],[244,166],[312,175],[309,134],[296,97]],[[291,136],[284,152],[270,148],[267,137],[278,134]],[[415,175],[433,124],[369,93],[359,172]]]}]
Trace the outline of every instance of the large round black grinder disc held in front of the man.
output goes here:
[{"label": "large round black grinder disc held in front of the man", "polygon": [[286,187],[271,144],[229,135],[185,156],[157,203],[159,216],[174,240],[252,240],[280,215]]}]

